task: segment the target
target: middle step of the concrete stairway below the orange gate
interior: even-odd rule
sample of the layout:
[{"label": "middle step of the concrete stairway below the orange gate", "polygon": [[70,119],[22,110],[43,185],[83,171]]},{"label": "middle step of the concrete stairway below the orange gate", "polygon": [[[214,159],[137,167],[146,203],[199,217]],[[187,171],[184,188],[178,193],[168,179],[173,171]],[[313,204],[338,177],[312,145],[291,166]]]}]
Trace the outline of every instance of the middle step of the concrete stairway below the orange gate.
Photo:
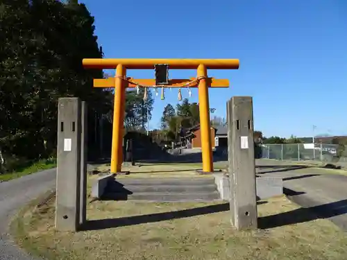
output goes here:
[{"label": "middle step of the concrete stairway below the orange gate", "polygon": [[[122,187],[133,193],[207,193],[217,191],[216,184],[207,184],[207,185],[126,185]],[[117,189],[112,189],[115,191]],[[119,189],[118,189],[119,190]]]}]

